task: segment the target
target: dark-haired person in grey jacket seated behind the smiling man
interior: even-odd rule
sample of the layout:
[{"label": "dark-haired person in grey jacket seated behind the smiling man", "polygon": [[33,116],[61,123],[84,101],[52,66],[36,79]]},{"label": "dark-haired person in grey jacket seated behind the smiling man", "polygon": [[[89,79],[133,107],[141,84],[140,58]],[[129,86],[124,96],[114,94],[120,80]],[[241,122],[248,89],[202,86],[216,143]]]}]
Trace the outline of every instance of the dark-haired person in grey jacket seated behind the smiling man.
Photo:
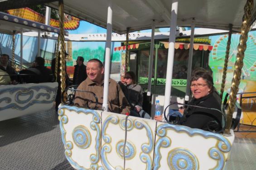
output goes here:
[{"label": "dark-haired person in grey jacket seated behind the smiling man", "polygon": [[131,116],[150,119],[150,115],[142,110],[143,91],[140,85],[136,82],[135,73],[132,71],[126,72],[124,79],[119,82],[126,99],[129,101]]}]

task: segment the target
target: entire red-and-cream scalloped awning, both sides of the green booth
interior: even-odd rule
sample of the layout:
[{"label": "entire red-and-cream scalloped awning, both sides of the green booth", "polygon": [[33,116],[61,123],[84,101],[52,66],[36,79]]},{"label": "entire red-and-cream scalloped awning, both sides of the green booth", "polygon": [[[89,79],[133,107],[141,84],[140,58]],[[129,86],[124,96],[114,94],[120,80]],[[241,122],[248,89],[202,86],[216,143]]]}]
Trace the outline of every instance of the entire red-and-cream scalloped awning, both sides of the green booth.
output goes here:
[{"label": "entire red-and-cream scalloped awning, both sides of the green booth", "polygon": [[[164,41],[160,41],[162,44],[164,44],[164,48],[169,48],[169,42],[164,42]],[[140,44],[131,44],[128,46],[128,50],[130,49],[137,49],[139,48]],[[189,49],[189,43],[183,43],[183,42],[175,42],[175,49],[185,49],[188,50]],[[115,47],[114,48],[115,51],[123,51],[126,50],[126,46],[119,46],[119,47]],[[194,50],[204,50],[204,51],[212,51],[213,50],[213,46],[207,45],[207,44],[194,44]]]}]

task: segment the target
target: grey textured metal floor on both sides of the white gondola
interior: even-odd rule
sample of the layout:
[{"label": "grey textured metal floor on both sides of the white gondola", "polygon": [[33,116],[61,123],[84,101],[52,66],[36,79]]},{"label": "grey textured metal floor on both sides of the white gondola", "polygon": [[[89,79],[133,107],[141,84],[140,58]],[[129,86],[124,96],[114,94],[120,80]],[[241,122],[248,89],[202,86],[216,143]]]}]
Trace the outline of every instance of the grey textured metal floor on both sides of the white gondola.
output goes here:
[{"label": "grey textured metal floor on both sides of the white gondola", "polygon": [[[231,152],[226,170],[256,170],[256,133],[236,133]],[[73,170],[55,110],[0,121],[0,170]]]}]

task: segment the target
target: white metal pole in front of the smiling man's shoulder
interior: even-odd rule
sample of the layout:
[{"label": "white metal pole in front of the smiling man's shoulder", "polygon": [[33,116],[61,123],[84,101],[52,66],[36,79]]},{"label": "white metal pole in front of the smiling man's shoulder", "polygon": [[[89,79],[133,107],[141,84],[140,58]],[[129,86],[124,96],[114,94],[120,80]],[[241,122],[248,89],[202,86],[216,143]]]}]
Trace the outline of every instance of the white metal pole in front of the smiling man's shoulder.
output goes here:
[{"label": "white metal pole in front of the smiling man's shoulder", "polygon": [[104,75],[104,93],[103,93],[103,110],[108,111],[108,85],[110,74],[110,50],[111,50],[111,33],[112,33],[112,1],[109,1],[107,8],[107,26],[106,26],[106,54],[105,54],[105,75]]}]

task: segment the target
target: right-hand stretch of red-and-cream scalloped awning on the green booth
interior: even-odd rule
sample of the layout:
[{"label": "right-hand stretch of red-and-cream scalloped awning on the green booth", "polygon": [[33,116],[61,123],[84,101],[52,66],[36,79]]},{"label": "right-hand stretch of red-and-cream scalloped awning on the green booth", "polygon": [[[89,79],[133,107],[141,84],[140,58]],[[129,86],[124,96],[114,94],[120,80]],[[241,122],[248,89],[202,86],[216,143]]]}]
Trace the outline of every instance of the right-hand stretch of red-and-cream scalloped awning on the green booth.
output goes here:
[{"label": "right-hand stretch of red-and-cream scalloped awning on the green booth", "polygon": [[[169,48],[169,42],[164,42],[164,41],[161,41],[161,43],[164,44],[164,48]],[[189,49],[189,43],[184,43],[184,42],[175,42],[175,45],[174,45],[174,48],[175,49],[185,49],[185,50],[188,50]],[[204,51],[212,51],[213,50],[213,46],[211,45],[207,45],[207,44],[195,44],[194,43],[194,50],[204,50]]]}]

